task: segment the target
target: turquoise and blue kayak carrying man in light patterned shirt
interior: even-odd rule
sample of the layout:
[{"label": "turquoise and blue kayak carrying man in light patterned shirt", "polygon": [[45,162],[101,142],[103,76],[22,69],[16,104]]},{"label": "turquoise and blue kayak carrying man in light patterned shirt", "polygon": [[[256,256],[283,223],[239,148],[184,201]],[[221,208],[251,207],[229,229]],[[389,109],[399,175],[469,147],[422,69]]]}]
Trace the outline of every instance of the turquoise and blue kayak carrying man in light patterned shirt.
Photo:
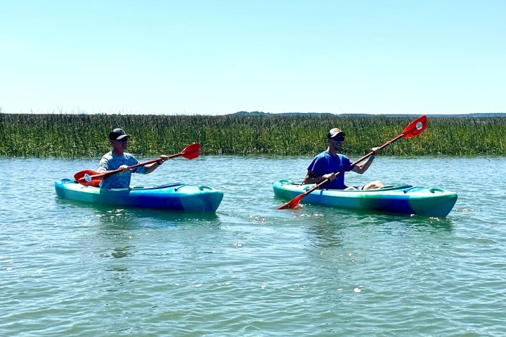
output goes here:
[{"label": "turquoise and blue kayak carrying man in light patterned shirt", "polygon": [[213,213],[223,199],[223,192],[220,190],[183,183],[106,190],[84,186],[65,178],[55,182],[55,189],[58,197],[63,199],[169,211]]}]

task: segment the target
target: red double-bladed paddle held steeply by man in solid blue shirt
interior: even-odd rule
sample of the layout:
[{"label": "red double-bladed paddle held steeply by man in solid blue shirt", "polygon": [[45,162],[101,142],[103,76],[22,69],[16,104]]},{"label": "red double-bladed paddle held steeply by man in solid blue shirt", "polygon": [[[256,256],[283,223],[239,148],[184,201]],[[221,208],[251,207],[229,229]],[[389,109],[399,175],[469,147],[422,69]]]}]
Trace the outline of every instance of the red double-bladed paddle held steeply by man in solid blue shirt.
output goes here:
[{"label": "red double-bladed paddle held steeply by man in solid blue shirt", "polygon": [[[412,121],[408,126],[406,126],[406,128],[403,130],[403,132],[400,135],[396,136],[395,138],[392,138],[387,143],[384,143],[382,146],[378,147],[377,150],[382,150],[382,148],[387,147],[388,145],[390,145],[391,143],[394,143],[398,139],[413,138],[415,136],[418,136],[418,135],[420,135],[420,133],[422,133],[425,130],[425,128],[427,128],[427,116],[422,116],[422,117]],[[375,154],[374,151],[371,151],[368,154],[365,154],[365,156],[363,156],[361,159],[353,161],[353,163],[351,163],[348,167],[346,167],[346,169],[335,173],[335,175],[337,176],[339,174],[346,172],[349,168],[360,163],[361,161],[363,161],[365,159],[368,159],[373,154]],[[315,187],[312,187],[311,189],[307,190],[303,194],[297,195],[297,197],[294,197],[294,199],[292,199],[292,200],[288,201],[286,204],[283,204],[282,206],[278,207],[278,209],[294,209],[300,203],[302,198],[306,197],[307,194],[313,192],[314,190],[317,190],[318,188],[320,188],[320,186],[327,183],[327,181],[329,181],[329,179],[325,179],[323,181],[320,181],[320,183],[316,184]]]}]

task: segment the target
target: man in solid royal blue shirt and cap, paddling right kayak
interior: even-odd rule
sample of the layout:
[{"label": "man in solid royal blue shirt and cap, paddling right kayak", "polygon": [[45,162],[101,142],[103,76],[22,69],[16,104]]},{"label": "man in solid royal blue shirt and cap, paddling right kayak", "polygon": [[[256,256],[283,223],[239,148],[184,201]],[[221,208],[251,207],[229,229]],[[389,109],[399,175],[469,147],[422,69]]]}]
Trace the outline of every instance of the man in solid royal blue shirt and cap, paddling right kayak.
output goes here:
[{"label": "man in solid royal blue shirt and cap, paddling right kayak", "polygon": [[[372,181],[367,185],[361,187],[353,187],[344,185],[344,174],[336,175],[335,173],[348,168],[351,165],[351,160],[342,151],[342,142],[344,142],[346,134],[340,128],[331,128],[327,133],[327,150],[317,154],[311,164],[308,166],[304,184],[318,184],[321,181],[328,179],[327,183],[323,184],[321,188],[328,190],[370,190],[372,188],[383,187],[380,180]],[[372,151],[376,152],[377,147]],[[375,159],[374,156],[369,157],[363,164],[356,164],[351,166],[346,171],[353,171],[356,173],[364,173],[369,169],[370,164]]]}]

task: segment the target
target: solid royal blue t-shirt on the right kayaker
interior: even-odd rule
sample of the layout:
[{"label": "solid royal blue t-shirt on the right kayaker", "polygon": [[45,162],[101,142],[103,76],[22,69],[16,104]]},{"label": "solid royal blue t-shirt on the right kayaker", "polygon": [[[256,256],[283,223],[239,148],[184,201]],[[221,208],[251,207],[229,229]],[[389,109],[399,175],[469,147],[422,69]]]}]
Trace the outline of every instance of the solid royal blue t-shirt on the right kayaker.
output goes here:
[{"label": "solid royal blue t-shirt on the right kayaker", "polygon": [[[313,161],[311,161],[311,164],[308,166],[308,171],[313,171],[315,173],[315,177],[319,177],[327,173],[337,173],[342,171],[350,166],[350,164],[351,160],[344,154],[332,156],[329,152],[323,151],[314,157]],[[346,171],[351,171],[351,169],[353,169],[353,166]],[[337,176],[334,180],[323,184],[321,188],[328,190],[344,190],[346,188],[346,185],[344,185],[344,174],[339,174],[339,176]]]}]

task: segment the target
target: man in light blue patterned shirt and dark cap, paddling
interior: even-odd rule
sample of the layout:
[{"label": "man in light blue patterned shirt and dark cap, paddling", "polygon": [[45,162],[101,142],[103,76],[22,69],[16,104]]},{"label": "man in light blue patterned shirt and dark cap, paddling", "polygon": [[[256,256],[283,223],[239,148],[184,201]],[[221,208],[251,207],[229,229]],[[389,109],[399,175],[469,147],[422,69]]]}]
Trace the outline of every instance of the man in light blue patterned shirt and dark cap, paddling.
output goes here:
[{"label": "man in light blue patterned shirt and dark cap, paddling", "polygon": [[103,155],[102,159],[100,159],[100,164],[98,164],[97,171],[104,172],[122,169],[122,172],[105,176],[100,182],[100,188],[128,188],[130,186],[131,173],[151,173],[158,166],[162,165],[164,160],[167,160],[167,156],[162,154],[160,156],[162,160],[160,161],[137,166],[129,170],[128,166],[138,164],[138,160],[133,154],[125,152],[129,137],[130,135],[127,135],[122,128],[115,128],[109,133],[112,151]]}]

